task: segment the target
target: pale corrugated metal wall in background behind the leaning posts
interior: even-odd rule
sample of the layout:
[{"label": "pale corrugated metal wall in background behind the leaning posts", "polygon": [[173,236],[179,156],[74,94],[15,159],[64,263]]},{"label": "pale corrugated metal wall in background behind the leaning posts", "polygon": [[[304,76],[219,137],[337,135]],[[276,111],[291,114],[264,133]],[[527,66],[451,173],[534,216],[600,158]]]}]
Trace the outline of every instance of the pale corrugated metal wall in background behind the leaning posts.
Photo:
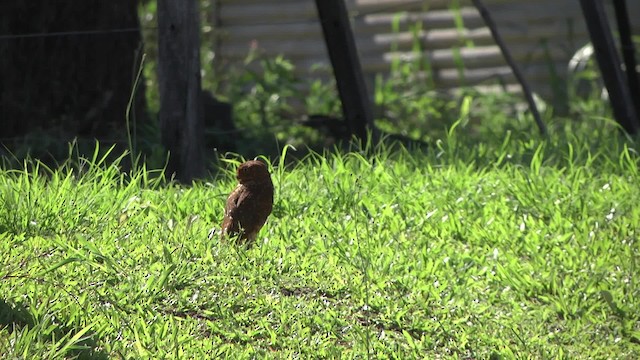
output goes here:
[{"label": "pale corrugated metal wall in background behind the leaning posts", "polygon": [[[571,56],[588,42],[578,0],[484,2],[534,90],[550,96],[553,77],[565,76]],[[309,76],[312,65],[329,66],[313,0],[218,0],[217,5],[218,69],[241,62],[252,46],[267,56],[284,55],[301,76]],[[347,5],[369,78],[388,72],[393,59],[415,57],[417,39],[436,88],[490,86],[498,79],[515,84],[489,29],[467,0],[347,0]],[[638,34],[640,1],[627,6]]]}]

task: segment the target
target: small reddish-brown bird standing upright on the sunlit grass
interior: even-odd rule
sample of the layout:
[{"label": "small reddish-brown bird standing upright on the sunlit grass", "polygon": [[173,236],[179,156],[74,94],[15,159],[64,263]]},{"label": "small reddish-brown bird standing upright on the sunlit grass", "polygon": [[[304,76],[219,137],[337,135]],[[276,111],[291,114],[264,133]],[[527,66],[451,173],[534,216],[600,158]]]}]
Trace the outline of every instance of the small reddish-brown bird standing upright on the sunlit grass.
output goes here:
[{"label": "small reddish-brown bird standing upright on the sunlit grass", "polygon": [[222,238],[253,243],[273,209],[273,183],[267,166],[257,160],[240,164],[238,186],[224,207]]}]

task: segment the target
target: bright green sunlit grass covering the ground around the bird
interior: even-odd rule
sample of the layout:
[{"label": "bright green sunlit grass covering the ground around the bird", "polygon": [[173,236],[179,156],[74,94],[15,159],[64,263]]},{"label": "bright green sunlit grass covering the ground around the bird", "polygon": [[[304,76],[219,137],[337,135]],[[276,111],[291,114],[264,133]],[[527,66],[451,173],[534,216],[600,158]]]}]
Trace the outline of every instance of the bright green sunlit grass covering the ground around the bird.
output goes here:
[{"label": "bright green sunlit grass covering the ground around the bird", "polygon": [[638,358],[637,144],[585,128],[273,159],[251,249],[215,232],[234,164],[3,170],[0,354]]}]

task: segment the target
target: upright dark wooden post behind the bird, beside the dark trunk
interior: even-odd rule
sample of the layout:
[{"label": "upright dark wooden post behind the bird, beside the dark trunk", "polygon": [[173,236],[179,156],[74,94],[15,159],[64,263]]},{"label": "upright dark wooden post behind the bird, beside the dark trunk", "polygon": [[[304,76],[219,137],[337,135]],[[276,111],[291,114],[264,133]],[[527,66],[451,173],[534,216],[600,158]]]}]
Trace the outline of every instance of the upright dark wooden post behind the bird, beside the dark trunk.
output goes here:
[{"label": "upright dark wooden post behind the bird, beside the dark trunk", "polygon": [[204,175],[200,27],[196,0],[158,0],[160,131],[167,175],[189,183]]}]

